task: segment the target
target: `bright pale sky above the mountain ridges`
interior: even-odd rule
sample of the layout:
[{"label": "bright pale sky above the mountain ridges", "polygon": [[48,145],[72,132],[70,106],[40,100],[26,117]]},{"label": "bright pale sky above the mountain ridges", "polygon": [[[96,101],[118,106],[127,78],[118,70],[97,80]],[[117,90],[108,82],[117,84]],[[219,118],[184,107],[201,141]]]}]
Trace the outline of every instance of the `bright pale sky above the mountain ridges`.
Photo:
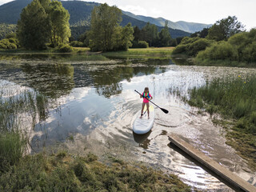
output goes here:
[{"label": "bright pale sky above the mountain ridges", "polygon": [[[86,1],[86,0],[85,0]],[[222,18],[237,16],[246,30],[256,27],[256,0],[91,0],[153,18],[172,22],[213,24]],[[10,0],[0,0],[10,2]]]}]

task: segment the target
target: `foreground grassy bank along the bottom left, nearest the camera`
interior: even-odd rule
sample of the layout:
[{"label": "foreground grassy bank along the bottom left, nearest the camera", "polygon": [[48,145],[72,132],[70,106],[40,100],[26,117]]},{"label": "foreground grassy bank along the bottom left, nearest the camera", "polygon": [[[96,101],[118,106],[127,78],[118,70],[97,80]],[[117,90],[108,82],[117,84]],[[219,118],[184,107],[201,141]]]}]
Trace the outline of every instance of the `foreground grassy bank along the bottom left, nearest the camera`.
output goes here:
[{"label": "foreground grassy bank along the bottom left, nearest the camera", "polygon": [[146,166],[110,161],[94,154],[85,158],[66,153],[22,158],[0,176],[1,191],[191,191],[173,174]]}]

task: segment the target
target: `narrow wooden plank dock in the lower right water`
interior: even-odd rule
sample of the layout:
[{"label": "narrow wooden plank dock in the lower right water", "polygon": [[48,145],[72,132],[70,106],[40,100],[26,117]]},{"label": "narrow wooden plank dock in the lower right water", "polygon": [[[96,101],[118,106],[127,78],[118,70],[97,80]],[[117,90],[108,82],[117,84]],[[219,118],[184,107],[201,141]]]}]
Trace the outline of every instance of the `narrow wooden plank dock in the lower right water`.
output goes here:
[{"label": "narrow wooden plank dock in the lower right water", "polygon": [[191,158],[194,158],[203,166],[206,166],[206,168],[212,171],[214,174],[218,175],[219,178],[222,178],[223,181],[229,183],[230,186],[234,186],[234,188],[239,189],[239,191],[256,192],[255,186],[238,177],[238,175],[232,173],[230,170],[227,170],[225,167],[219,165],[218,162],[215,162],[213,159],[206,156],[206,154],[203,154],[201,151],[195,149],[194,146],[191,146],[177,135],[170,134],[169,140],[180,150],[188,154]]}]

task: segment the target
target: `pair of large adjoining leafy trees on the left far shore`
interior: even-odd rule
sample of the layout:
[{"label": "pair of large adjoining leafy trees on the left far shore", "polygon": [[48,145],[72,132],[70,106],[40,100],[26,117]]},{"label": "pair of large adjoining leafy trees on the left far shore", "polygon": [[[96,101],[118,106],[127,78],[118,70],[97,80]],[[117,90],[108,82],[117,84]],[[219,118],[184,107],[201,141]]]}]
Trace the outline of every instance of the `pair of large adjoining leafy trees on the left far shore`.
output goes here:
[{"label": "pair of large adjoining leafy trees on the left far shore", "polygon": [[18,40],[26,49],[44,49],[66,43],[70,38],[70,14],[61,2],[33,0],[22,10],[18,21]]}]

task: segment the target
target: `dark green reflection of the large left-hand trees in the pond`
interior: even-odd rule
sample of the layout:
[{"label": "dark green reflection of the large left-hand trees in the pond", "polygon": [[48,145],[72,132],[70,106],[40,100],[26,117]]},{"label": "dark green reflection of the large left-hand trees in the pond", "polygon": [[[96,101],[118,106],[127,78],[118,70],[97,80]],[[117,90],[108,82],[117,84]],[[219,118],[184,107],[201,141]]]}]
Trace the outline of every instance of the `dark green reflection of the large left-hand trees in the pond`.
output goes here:
[{"label": "dark green reflection of the large left-hand trees in the pond", "polygon": [[50,98],[70,94],[74,88],[74,67],[71,65],[22,65],[28,86]]}]

